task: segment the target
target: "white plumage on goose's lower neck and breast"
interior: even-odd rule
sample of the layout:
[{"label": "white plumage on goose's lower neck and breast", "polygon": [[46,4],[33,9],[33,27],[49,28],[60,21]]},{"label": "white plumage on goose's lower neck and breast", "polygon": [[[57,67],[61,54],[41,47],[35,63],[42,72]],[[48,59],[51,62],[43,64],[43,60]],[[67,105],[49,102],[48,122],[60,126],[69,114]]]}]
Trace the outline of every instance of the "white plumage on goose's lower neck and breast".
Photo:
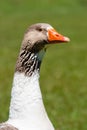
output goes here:
[{"label": "white plumage on goose's lower neck and breast", "polygon": [[37,71],[31,77],[15,73],[7,122],[19,130],[54,130],[43,105]]}]

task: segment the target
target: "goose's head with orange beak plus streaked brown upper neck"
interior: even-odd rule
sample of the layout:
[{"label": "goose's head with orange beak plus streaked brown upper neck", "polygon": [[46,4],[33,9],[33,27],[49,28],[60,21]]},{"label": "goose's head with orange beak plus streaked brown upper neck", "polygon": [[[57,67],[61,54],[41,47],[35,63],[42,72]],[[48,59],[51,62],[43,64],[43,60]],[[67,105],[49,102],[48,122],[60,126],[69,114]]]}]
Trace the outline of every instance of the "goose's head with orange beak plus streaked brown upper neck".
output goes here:
[{"label": "goose's head with orange beak plus streaked brown upper neck", "polygon": [[47,23],[31,25],[25,32],[22,41],[16,71],[31,76],[34,71],[40,70],[46,45],[69,41],[68,37],[59,34]]}]

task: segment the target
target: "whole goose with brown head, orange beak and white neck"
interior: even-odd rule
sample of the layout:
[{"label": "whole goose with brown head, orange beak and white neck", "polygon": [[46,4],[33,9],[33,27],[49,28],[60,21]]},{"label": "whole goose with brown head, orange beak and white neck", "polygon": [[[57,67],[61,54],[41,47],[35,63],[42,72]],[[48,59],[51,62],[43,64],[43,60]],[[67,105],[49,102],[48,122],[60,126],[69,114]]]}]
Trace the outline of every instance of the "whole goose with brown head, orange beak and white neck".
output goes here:
[{"label": "whole goose with brown head, orange beak and white neck", "polygon": [[69,41],[47,23],[27,29],[16,62],[9,117],[0,130],[54,130],[39,86],[40,66],[46,45]]}]

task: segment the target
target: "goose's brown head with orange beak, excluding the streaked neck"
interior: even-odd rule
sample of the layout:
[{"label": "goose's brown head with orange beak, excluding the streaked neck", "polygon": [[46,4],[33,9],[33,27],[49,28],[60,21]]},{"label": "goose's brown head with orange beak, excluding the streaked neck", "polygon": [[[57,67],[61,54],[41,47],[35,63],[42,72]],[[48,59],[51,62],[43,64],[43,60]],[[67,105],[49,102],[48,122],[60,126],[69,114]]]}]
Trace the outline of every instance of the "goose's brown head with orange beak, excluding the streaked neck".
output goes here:
[{"label": "goose's brown head with orange beak, excluding the streaked neck", "polygon": [[47,23],[31,25],[24,35],[22,49],[26,47],[29,51],[39,52],[45,45],[61,42],[69,42],[69,38],[59,34]]}]

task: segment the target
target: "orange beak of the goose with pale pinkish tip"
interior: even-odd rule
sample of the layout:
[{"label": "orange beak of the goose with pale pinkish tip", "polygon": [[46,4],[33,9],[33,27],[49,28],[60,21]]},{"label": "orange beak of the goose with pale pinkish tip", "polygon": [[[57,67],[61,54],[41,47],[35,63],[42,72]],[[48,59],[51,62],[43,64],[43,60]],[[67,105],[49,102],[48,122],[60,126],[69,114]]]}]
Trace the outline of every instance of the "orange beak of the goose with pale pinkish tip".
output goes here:
[{"label": "orange beak of the goose with pale pinkish tip", "polygon": [[57,43],[57,42],[69,42],[70,39],[68,37],[65,37],[61,34],[59,34],[54,29],[48,29],[48,41],[51,43]]}]

